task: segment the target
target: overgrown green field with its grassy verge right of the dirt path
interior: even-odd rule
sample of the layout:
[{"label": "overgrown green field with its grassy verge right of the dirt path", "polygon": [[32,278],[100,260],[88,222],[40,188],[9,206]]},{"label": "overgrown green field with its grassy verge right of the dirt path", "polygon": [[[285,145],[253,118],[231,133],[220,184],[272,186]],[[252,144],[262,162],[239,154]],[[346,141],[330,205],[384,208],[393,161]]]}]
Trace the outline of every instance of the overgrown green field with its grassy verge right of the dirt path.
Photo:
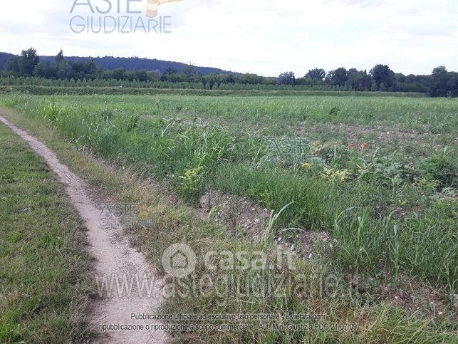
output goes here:
[{"label": "overgrown green field with its grassy verge right of the dirt path", "polygon": [[[18,93],[0,103],[31,127],[55,130],[68,150],[128,170],[176,200],[151,201],[154,226],[129,229],[159,269],[163,249],[177,241],[202,255],[261,250],[272,262],[281,248],[293,256],[293,269],[236,269],[224,293],[178,293],[165,312],[315,312],[350,326],[197,330],[179,339],[457,339],[457,99]],[[198,262],[183,288],[204,273],[217,279]],[[323,294],[316,281],[328,276],[332,292]],[[268,285],[282,296],[258,292]]]}]

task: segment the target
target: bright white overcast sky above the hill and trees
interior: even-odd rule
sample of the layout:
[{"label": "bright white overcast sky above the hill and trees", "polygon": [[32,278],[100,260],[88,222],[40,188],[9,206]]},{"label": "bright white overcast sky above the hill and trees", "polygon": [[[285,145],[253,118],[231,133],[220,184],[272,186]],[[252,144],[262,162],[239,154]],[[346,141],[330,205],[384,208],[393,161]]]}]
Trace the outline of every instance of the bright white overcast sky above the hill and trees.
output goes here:
[{"label": "bright white overcast sky above the hill and trees", "polygon": [[[140,14],[127,14],[127,3]],[[98,13],[108,4],[107,14]],[[169,33],[71,30],[75,16],[146,22],[146,6],[147,0],[4,1],[0,51],[33,47],[56,55],[62,48],[66,56],[138,56],[265,76],[370,70],[377,63],[405,75],[437,66],[458,71],[457,0],[181,0],[159,7],[155,20],[170,23]]]}]

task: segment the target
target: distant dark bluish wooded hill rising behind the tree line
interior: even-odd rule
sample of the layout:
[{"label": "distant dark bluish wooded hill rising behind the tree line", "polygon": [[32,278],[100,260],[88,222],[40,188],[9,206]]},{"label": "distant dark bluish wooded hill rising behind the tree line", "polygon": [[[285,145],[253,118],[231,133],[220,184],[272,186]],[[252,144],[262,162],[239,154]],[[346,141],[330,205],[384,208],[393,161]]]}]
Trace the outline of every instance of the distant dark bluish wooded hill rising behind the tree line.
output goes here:
[{"label": "distant dark bluish wooded hill rising behind the tree line", "polygon": [[[4,64],[6,61],[14,54],[11,53],[1,53],[0,52],[0,71],[3,70]],[[79,57],[79,56],[66,56],[67,61],[73,62],[85,62],[88,61],[88,57]],[[177,73],[182,73],[184,67],[189,66],[186,63],[174,62],[174,61],[162,61],[157,60],[156,58],[115,58],[113,56],[104,56],[104,57],[96,57],[93,58],[95,61],[95,65],[103,68],[108,71],[113,71],[116,68],[125,68],[126,71],[139,71],[141,69],[145,69],[146,71],[160,71],[164,73],[167,68],[173,68]],[[40,56],[40,60],[43,62],[49,61],[50,63],[55,63],[56,59],[55,56]],[[229,74],[229,71],[223,71],[219,68],[211,68],[211,67],[199,67],[194,66],[197,73],[201,73],[202,75],[208,74]]]}]

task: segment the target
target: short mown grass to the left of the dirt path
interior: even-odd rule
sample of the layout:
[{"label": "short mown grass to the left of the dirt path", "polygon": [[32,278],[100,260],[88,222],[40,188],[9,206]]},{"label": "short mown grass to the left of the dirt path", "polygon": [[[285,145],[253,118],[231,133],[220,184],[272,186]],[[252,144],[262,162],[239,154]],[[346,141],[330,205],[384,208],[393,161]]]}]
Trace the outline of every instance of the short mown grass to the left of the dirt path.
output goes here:
[{"label": "short mown grass to the left of the dirt path", "polygon": [[0,124],[0,342],[80,343],[90,258],[61,185],[24,140]]}]

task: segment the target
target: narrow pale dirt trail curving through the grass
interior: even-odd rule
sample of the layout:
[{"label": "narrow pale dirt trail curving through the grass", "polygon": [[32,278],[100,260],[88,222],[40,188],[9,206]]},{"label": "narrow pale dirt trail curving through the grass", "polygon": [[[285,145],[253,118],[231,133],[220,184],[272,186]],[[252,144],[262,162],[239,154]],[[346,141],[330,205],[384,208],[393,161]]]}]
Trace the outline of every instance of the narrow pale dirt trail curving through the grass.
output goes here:
[{"label": "narrow pale dirt trail curving through the grass", "polygon": [[[100,325],[108,324],[149,324],[150,322],[145,323],[144,320],[131,320],[130,316],[131,313],[157,311],[162,302],[161,281],[156,278],[154,269],[147,264],[144,256],[130,246],[121,226],[108,228],[100,221],[104,205],[110,202],[100,200],[100,196],[94,194],[90,185],[62,165],[56,155],[35,137],[1,116],[0,121],[26,140],[58,175],[59,181],[64,185],[66,193],[88,229],[90,252],[96,259],[95,278],[98,285],[103,286],[104,280],[108,285],[114,281],[111,293],[107,290],[101,293],[100,290],[103,289],[99,288],[99,296],[103,297],[95,301],[91,314],[95,330],[99,330]],[[134,288],[130,290],[130,295],[127,295],[127,291],[120,293],[122,287],[117,288],[117,283],[122,284],[124,280],[127,281],[127,286],[130,286],[131,278],[134,278],[135,283],[132,284]],[[144,283],[143,286],[146,288],[135,288],[138,281]],[[106,331],[103,337],[95,340],[95,343],[165,343],[167,339],[167,333],[162,331],[114,330]]]}]

